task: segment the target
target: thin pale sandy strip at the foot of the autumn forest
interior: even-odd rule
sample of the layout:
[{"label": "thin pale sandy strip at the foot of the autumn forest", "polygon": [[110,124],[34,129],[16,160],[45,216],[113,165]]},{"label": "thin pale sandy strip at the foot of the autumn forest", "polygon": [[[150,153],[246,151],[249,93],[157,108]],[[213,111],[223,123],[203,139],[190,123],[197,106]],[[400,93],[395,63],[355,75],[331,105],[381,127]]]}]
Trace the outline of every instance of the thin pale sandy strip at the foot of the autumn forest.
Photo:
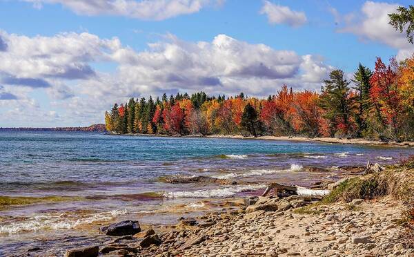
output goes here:
[{"label": "thin pale sandy strip at the foot of the autumn forest", "polygon": [[327,144],[360,144],[371,146],[385,146],[385,147],[414,147],[414,141],[404,142],[382,142],[375,140],[366,140],[364,138],[336,138],[336,137],[303,137],[303,136],[275,136],[275,135],[262,135],[259,137],[244,137],[243,135],[164,135],[164,134],[140,134],[140,133],[128,133],[128,134],[115,134],[108,133],[108,135],[128,135],[128,136],[141,136],[141,137],[173,137],[173,138],[226,138],[235,140],[274,140],[274,141],[291,141],[291,142],[319,142]]}]

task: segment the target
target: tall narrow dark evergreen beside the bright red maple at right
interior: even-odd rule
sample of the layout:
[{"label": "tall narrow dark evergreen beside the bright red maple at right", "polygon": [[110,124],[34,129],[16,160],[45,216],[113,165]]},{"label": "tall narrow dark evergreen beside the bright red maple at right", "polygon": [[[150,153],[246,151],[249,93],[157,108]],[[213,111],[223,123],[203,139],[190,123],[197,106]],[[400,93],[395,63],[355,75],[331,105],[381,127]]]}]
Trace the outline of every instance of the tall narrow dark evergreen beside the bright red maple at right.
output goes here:
[{"label": "tall narrow dark evergreen beside the bright red maple at right", "polygon": [[359,64],[357,71],[354,73],[352,82],[355,84],[354,89],[357,91],[358,113],[355,115],[355,122],[358,126],[357,136],[361,137],[362,132],[366,130],[366,116],[369,111],[369,89],[371,85],[369,81],[373,75],[369,68]]}]

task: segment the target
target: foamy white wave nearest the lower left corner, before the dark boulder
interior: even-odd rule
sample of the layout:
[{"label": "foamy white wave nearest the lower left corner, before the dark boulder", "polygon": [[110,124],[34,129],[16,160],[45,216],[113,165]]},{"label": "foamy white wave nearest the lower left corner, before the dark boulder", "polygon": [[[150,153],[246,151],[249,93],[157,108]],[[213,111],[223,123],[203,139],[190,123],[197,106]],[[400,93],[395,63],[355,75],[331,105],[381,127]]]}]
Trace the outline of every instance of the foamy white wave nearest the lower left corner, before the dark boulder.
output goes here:
[{"label": "foamy white wave nearest the lower left corner, before the dark boulder", "polygon": [[[0,235],[21,234],[24,232],[42,231],[46,229],[73,229],[80,225],[87,225],[95,222],[107,222],[113,220],[117,216],[125,215],[126,213],[127,211],[124,209],[97,213],[83,218],[78,218],[75,213],[72,215],[63,213],[59,216],[39,215],[22,222],[12,222],[8,225],[0,225]],[[73,219],[71,220],[70,218]]]}]

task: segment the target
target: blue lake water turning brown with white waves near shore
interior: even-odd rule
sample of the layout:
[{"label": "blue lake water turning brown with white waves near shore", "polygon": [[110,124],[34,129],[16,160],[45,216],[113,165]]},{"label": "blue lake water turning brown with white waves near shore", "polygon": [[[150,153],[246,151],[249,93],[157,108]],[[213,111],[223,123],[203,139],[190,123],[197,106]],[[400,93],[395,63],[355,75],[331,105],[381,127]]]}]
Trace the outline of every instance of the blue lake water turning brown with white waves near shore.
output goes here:
[{"label": "blue lake water turning brown with white waves near shore", "polygon": [[[175,224],[177,216],[219,208],[215,200],[262,193],[269,181],[308,187],[337,180],[341,166],[391,164],[412,154],[313,142],[0,132],[0,196],[74,197],[0,209],[0,255],[37,245],[39,238],[96,234],[100,224],[125,218]],[[163,182],[171,175],[243,183]]]}]

